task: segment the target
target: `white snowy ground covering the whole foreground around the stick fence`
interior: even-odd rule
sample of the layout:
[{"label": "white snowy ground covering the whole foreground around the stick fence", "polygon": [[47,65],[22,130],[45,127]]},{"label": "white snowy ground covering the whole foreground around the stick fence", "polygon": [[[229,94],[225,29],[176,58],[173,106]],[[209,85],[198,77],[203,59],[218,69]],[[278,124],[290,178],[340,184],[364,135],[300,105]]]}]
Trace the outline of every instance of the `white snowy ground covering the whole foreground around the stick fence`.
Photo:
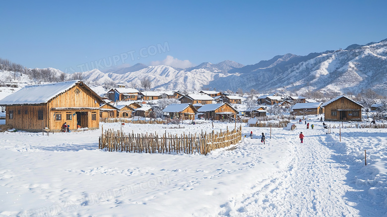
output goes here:
[{"label": "white snowy ground covering the whole foreground around the stick fence", "polygon": [[[207,156],[106,152],[97,149],[100,130],[0,133],[0,216],[387,216],[387,130],[341,129],[339,142],[338,128],[325,134],[312,123],[273,128],[271,139],[268,128],[243,127],[257,136]],[[226,129],[183,126],[123,130]]]}]

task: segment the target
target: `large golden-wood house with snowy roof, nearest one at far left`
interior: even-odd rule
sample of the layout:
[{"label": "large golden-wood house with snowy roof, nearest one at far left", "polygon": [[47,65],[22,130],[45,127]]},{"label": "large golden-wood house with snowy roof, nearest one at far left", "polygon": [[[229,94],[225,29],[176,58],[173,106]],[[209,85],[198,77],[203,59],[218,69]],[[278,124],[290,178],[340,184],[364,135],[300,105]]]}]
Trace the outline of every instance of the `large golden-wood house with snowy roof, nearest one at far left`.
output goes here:
[{"label": "large golden-wood house with snowy roof, nearest one at far left", "polygon": [[79,80],[31,85],[0,100],[6,107],[5,123],[17,130],[60,131],[66,122],[70,130],[99,128],[103,99]]}]

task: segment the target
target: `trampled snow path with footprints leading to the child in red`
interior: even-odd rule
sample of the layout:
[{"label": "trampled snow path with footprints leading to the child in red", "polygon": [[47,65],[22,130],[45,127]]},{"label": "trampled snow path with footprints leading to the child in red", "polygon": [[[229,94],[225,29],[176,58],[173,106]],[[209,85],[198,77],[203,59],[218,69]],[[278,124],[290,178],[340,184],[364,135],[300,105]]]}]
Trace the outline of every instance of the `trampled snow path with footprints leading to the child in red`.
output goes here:
[{"label": "trampled snow path with footprints leading to the child in red", "polygon": [[352,207],[356,204],[344,197],[353,190],[344,181],[346,166],[332,159],[334,153],[322,145],[321,133],[304,132],[303,144],[298,135],[289,135],[293,159],[288,167],[252,186],[250,193],[230,200],[229,213],[219,215],[359,216],[359,211]]}]

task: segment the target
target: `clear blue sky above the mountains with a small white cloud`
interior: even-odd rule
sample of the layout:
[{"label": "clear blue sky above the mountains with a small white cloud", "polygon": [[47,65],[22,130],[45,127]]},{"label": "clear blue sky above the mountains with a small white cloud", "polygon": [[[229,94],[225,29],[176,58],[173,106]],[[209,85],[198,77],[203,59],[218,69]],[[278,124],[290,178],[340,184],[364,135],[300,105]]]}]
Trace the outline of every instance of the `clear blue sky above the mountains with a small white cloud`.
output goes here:
[{"label": "clear blue sky above the mountains with a small white cloud", "polygon": [[381,41],[386,8],[385,0],[2,1],[0,58],[64,72],[251,65]]}]

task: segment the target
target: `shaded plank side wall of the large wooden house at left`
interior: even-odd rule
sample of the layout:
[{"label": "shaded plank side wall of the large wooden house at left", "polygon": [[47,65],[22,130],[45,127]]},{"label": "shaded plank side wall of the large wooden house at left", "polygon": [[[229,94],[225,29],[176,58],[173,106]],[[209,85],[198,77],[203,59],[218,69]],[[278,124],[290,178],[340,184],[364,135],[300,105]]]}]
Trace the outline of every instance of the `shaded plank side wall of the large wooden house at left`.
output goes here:
[{"label": "shaded plank side wall of the large wooden house at left", "polygon": [[47,104],[6,106],[5,111],[6,124],[17,130],[42,131],[48,126]]}]

